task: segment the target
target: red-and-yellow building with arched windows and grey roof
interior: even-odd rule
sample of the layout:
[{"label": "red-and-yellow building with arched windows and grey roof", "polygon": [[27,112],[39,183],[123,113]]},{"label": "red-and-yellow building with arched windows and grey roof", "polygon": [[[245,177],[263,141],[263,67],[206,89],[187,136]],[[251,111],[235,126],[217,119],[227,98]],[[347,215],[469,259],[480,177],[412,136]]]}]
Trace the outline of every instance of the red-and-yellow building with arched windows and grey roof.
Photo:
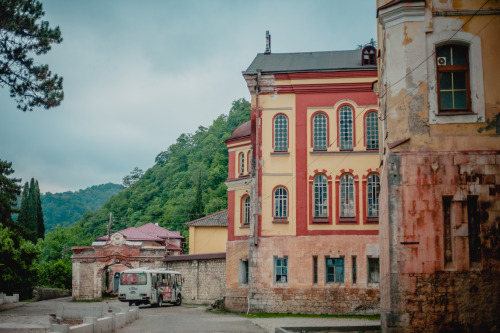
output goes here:
[{"label": "red-and-yellow building with arched windows and grey roof", "polygon": [[229,151],[226,308],[377,313],[376,50],[258,54]]}]

